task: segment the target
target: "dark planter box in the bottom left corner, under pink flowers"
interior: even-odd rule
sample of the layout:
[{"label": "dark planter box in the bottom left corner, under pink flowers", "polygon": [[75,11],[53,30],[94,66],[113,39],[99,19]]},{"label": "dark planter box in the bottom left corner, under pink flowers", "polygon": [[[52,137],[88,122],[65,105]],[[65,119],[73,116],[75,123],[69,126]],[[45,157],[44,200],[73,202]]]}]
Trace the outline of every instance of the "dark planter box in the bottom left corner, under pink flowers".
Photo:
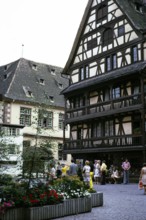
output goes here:
[{"label": "dark planter box in the bottom left corner, under pink flowers", "polygon": [[23,208],[10,208],[5,214],[0,214],[0,220],[23,220],[24,209]]}]

